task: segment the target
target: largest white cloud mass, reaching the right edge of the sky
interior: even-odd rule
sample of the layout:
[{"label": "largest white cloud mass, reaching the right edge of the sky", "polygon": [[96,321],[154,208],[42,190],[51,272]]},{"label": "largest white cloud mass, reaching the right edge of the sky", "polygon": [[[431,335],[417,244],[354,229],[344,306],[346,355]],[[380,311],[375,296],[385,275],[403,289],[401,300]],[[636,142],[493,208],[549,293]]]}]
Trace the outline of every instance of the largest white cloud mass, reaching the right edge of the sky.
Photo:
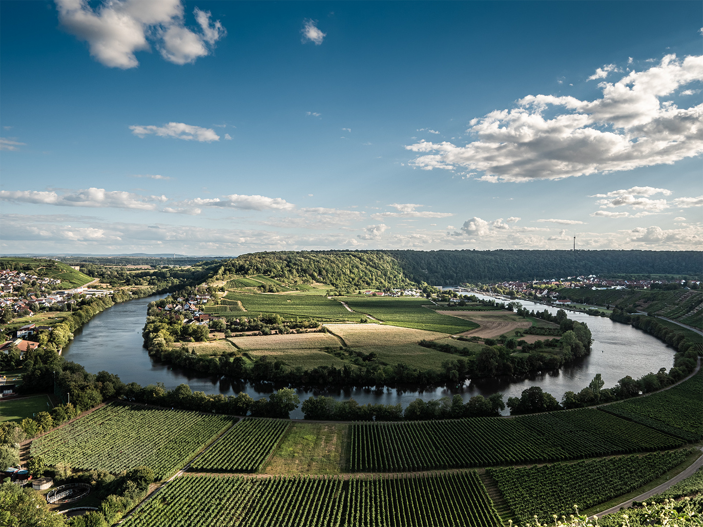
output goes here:
[{"label": "largest white cloud mass, reaching the right edge of the sky", "polygon": [[658,65],[601,82],[602,97],[527,96],[517,108],[472,119],[465,146],[420,141],[411,161],[425,170],[463,167],[482,181],[560,179],[672,164],[703,152],[703,104],[663,98],[703,80],[703,56],[665,56]]}]

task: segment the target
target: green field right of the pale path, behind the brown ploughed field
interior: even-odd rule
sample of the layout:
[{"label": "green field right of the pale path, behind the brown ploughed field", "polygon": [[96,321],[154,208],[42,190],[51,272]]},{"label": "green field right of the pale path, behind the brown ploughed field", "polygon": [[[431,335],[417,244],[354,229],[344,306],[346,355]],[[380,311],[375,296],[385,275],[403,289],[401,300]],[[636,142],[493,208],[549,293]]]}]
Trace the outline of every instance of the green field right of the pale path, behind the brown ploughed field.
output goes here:
[{"label": "green field right of the pale path, behind the brown ploughed field", "polygon": [[[456,334],[475,329],[477,325],[468,320],[462,320],[437,313],[430,308],[427,299],[416,297],[344,297],[347,305],[358,313],[371,315],[382,322],[401,326],[413,327],[416,330],[434,331],[446,334]],[[348,313],[352,314],[352,313]],[[359,320],[359,315],[356,315]]]}]

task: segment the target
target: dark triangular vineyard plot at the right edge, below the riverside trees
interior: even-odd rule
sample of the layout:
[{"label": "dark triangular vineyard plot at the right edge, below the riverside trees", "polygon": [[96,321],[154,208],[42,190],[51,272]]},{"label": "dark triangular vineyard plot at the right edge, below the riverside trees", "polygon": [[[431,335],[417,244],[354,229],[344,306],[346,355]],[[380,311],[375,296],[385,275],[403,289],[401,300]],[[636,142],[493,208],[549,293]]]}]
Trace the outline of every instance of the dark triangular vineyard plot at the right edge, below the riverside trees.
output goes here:
[{"label": "dark triangular vineyard plot at the right edge, below the riverside trees", "polygon": [[671,389],[605,405],[601,410],[686,441],[698,441],[703,437],[701,401],[703,372],[698,372]]}]

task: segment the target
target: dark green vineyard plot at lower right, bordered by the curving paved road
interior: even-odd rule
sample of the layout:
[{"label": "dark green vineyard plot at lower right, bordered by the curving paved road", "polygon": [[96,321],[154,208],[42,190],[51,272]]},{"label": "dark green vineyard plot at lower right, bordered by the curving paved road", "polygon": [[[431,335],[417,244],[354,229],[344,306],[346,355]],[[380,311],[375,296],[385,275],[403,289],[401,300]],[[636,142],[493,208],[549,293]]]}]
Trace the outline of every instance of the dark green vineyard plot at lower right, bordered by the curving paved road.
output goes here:
[{"label": "dark green vineyard plot at lower right, bordered by the curving paved road", "polygon": [[608,457],[541,467],[489,468],[505,501],[520,522],[553,521],[640,488],[685,461],[688,450]]}]

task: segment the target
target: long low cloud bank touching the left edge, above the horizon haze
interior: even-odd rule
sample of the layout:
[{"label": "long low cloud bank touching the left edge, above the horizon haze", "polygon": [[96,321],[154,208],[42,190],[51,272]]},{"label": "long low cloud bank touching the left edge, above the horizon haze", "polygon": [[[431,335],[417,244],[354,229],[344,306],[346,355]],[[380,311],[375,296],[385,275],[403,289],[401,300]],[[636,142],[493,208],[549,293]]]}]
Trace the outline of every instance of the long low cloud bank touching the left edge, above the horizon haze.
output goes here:
[{"label": "long low cloud bank touching the left edge, above the horizon haze", "polygon": [[143,196],[122,190],[87,188],[59,194],[48,190],[0,190],[0,200],[14,203],[61,205],[63,207],[115,207],[118,209],[155,210],[168,198]]}]

